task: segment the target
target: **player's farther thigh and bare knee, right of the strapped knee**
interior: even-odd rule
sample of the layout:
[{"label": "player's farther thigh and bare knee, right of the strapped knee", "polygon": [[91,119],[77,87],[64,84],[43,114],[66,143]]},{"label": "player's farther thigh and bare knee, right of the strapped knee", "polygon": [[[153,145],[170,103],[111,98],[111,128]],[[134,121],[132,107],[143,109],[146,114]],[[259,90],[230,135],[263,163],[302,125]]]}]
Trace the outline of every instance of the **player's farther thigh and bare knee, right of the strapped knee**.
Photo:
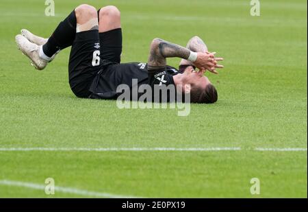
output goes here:
[{"label": "player's farther thigh and bare knee, right of the strapped knee", "polygon": [[113,5],[99,10],[99,40],[101,59],[120,63],[122,53],[120,10]]}]

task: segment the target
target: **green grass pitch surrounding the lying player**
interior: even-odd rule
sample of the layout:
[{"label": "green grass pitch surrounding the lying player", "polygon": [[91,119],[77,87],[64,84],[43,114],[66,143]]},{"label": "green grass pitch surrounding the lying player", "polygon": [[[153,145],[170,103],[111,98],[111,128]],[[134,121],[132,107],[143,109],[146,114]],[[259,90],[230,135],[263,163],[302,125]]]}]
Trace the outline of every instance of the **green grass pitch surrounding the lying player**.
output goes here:
[{"label": "green grass pitch surrounding the lying player", "polygon": [[[78,99],[68,85],[65,49],[36,71],[14,36],[26,28],[49,36],[81,3],[121,10],[123,62],[146,62],[155,37],[185,45],[194,35],[224,57],[213,105],[124,109]],[[164,198],[307,198],[307,1],[248,0],[0,2],[0,197],[91,197],[14,185],[44,185],[122,196]],[[178,59],[168,60],[177,66]],[[59,148],[240,148],[238,151],[57,151]],[[4,151],[55,148],[55,151]],[[255,148],[303,148],[256,151]],[[305,150],[306,149],[306,150]],[[251,178],[259,178],[252,195]],[[13,185],[4,185],[10,180]]]}]

